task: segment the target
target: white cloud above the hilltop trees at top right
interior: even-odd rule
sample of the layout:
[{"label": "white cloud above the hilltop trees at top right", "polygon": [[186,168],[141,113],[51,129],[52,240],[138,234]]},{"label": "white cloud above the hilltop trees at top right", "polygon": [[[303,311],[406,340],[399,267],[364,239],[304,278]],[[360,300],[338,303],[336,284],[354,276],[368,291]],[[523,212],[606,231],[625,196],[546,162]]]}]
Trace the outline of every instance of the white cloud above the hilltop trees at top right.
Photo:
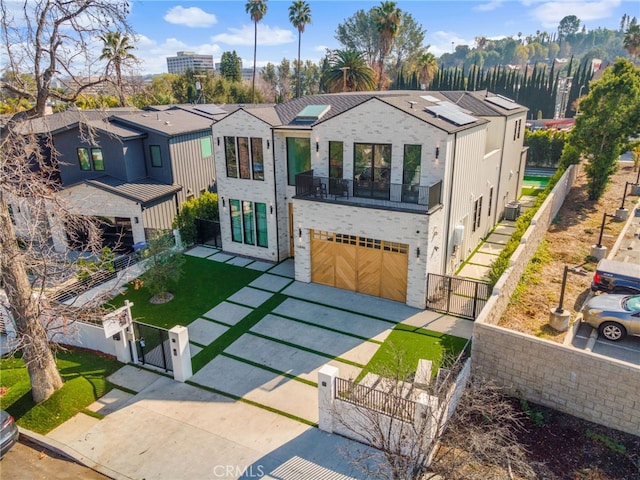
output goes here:
[{"label": "white cloud above the hilltop trees at top right", "polygon": [[620,0],[544,2],[533,8],[530,15],[544,27],[556,28],[560,20],[568,15],[575,15],[581,23],[608,18],[619,5]]}]

